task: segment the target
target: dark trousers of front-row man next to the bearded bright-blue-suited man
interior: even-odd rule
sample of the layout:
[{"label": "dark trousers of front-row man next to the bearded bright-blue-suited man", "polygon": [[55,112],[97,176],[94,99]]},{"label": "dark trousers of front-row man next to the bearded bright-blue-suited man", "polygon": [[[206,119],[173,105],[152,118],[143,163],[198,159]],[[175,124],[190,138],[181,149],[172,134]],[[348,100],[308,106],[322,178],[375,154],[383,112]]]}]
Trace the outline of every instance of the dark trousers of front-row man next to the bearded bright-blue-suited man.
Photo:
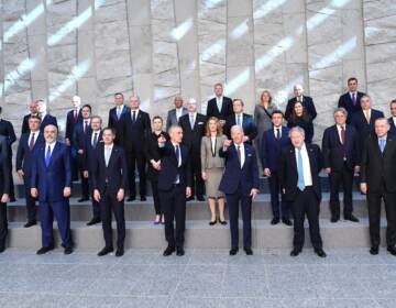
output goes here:
[{"label": "dark trousers of front-row man next to the bearded bright-blue-suited man", "polygon": [[[116,193],[117,194],[117,193]],[[112,248],[112,227],[111,212],[114,213],[117,223],[117,248],[123,249],[125,241],[125,217],[124,217],[124,201],[117,200],[116,194],[110,194],[105,189],[100,199],[100,218],[103,228],[103,238],[107,248]]]}]

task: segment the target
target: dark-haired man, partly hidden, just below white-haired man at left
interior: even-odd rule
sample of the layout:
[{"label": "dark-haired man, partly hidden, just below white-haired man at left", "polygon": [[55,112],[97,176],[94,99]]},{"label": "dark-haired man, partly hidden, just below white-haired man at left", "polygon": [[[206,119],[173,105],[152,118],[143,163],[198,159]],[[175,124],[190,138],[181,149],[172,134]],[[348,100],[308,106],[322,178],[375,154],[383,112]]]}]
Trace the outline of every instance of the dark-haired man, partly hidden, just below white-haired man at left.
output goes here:
[{"label": "dark-haired man, partly hidden, just below white-haired man at left", "polygon": [[86,152],[86,140],[87,135],[91,133],[90,128],[90,116],[91,116],[91,107],[90,105],[85,105],[81,108],[82,120],[80,123],[75,125],[73,132],[73,144],[77,151],[77,166],[78,172],[81,178],[81,198],[78,202],[84,202],[89,200],[89,182],[88,175],[85,172],[85,152]]}]

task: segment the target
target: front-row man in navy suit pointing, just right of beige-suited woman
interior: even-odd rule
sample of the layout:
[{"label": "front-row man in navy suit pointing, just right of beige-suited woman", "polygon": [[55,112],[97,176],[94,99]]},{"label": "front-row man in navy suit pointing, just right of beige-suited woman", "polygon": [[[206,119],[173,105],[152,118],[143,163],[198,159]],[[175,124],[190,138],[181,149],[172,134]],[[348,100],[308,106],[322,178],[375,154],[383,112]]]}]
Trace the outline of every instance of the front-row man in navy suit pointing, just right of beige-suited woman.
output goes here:
[{"label": "front-row man in navy suit pointing, just right of beige-suited woman", "polygon": [[226,169],[219,190],[226,194],[230,216],[231,250],[239,250],[239,208],[241,204],[243,220],[243,249],[252,255],[252,200],[258,194],[258,167],[254,147],[244,143],[243,130],[239,125],[231,128],[231,140],[226,140],[219,155],[226,158]]}]

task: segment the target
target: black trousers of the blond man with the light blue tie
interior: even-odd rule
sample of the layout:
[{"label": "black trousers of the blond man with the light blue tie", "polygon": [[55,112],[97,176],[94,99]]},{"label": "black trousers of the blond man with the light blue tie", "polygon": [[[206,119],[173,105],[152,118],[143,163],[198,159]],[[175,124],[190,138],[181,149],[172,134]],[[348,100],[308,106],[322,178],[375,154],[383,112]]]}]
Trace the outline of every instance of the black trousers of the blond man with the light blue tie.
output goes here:
[{"label": "black trousers of the blond man with the light blue tie", "polygon": [[309,222],[309,234],[315,249],[322,248],[322,240],[319,230],[319,204],[317,195],[311,186],[307,186],[304,191],[297,190],[296,199],[293,202],[294,216],[294,240],[293,245],[297,250],[304,246],[304,220],[307,216]]}]

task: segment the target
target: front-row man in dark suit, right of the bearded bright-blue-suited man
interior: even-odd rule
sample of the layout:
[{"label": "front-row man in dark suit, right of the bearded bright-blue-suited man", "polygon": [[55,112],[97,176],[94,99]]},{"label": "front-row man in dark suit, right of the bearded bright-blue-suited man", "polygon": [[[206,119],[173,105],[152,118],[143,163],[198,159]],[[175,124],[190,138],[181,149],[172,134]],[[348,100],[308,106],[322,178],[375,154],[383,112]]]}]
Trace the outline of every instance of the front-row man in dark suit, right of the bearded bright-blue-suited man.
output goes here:
[{"label": "front-row man in dark suit, right of the bearded bright-blue-suited man", "polygon": [[117,222],[116,256],[122,256],[124,253],[127,160],[122,147],[114,144],[114,138],[113,129],[103,129],[103,143],[98,145],[92,157],[94,198],[100,205],[106,243],[105,248],[98,253],[99,256],[113,251],[111,211],[114,213]]}]

